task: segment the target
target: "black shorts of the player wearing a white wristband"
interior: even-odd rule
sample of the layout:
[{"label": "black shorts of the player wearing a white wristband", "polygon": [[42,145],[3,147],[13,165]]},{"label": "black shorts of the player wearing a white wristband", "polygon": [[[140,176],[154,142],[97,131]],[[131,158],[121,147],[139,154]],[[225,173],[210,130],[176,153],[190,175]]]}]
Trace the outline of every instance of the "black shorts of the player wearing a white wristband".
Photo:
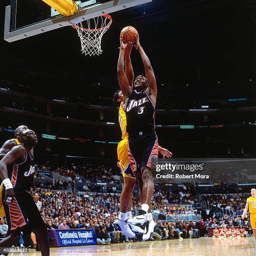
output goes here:
[{"label": "black shorts of the player wearing a white wristband", "polygon": [[23,232],[23,230],[33,230],[44,226],[44,220],[41,217],[33,197],[26,191],[13,190],[15,196],[11,204],[6,204],[3,201],[5,198],[5,188],[2,192],[2,203],[5,209],[8,228],[15,230],[19,227]]}]

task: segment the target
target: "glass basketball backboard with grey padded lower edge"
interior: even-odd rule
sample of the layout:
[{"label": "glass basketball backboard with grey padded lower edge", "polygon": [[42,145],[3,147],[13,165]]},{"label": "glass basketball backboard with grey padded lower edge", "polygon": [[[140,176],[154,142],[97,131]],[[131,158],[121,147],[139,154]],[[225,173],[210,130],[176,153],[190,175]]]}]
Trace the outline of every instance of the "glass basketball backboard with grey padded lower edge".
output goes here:
[{"label": "glass basketball backboard with grey padded lower edge", "polygon": [[151,1],[81,0],[76,1],[79,12],[63,17],[42,0],[10,0],[10,5],[5,8],[4,39],[8,42],[17,41]]}]

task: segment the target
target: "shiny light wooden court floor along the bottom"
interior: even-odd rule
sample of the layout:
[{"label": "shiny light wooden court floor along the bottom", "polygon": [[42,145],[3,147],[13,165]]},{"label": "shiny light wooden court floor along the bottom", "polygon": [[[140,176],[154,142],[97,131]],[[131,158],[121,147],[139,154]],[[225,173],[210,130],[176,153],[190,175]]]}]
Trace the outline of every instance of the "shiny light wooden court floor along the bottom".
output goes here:
[{"label": "shiny light wooden court floor along the bottom", "polygon": [[[17,255],[17,254],[16,254]],[[39,256],[31,250],[27,255]],[[51,256],[192,256],[192,255],[256,255],[254,238],[193,238],[183,240],[119,243],[105,246],[51,248]]]}]

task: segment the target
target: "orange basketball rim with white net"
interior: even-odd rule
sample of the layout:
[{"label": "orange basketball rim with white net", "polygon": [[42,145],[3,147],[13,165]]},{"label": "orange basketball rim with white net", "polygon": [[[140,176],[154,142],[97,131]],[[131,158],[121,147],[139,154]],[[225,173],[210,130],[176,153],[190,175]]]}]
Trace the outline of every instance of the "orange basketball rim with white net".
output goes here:
[{"label": "orange basketball rim with white net", "polygon": [[101,38],[112,24],[112,18],[108,14],[92,18],[87,21],[87,26],[83,28],[82,23],[72,25],[77,29],[78,36],[82,44],[82,53],[85,55],[99,55],[102,53]]}]

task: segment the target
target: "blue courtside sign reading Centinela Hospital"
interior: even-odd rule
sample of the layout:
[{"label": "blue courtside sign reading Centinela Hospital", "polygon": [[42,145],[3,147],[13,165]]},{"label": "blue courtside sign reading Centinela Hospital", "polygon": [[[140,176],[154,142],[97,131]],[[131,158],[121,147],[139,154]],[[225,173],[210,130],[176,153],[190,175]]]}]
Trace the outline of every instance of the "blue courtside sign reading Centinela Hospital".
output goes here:
[{"label": "blue courtside sign reading Centinela Hospital", "polygon": [[58,246],[82,246],[97,244],[94,230],[55,230]]}]

